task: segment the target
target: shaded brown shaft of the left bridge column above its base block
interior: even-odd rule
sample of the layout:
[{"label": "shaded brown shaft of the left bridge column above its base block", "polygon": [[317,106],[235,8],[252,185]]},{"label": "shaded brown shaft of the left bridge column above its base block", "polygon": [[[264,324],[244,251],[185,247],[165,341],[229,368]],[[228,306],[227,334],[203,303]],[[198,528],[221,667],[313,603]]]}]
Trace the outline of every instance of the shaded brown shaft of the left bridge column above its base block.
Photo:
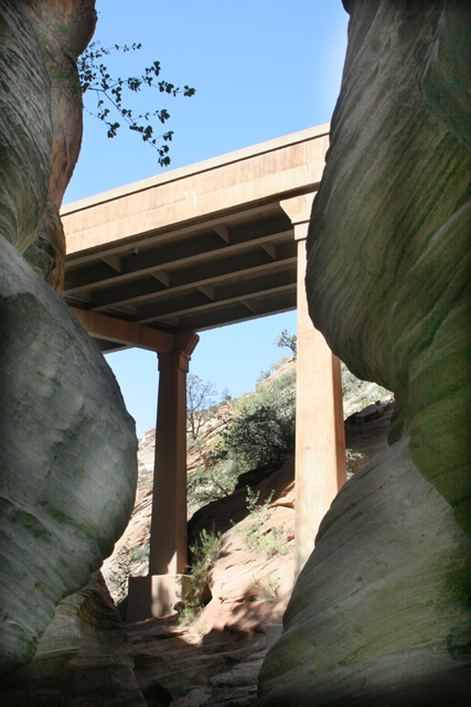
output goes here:
[{"label": "shaded brown shaft of the left bridge column above its base block", "polygon": [[186,374],[190,356],[159,354],[149,575],[186,568]]}]

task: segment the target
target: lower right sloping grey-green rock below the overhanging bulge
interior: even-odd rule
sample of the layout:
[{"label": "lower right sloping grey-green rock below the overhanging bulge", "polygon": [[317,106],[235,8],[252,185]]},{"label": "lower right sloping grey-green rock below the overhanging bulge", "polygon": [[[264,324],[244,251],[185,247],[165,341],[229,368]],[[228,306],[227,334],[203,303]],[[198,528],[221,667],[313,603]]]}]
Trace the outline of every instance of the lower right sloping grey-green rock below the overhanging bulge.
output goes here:
[{"label": "lower right sloping grey-green rock below the overhanging bulge", "polygon": [[260,707],[468,704],[470,551],[407,439],[377,457],[321,524],[260,673]]}]

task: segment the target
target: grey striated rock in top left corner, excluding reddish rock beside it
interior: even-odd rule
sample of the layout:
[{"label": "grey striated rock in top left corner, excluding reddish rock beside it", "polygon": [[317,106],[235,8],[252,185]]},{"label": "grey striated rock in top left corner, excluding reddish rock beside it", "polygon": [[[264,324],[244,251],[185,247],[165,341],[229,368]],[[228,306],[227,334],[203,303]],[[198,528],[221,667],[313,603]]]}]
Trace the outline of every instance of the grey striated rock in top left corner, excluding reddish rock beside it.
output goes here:
[{"label": "grey striated rock in top left corner, excluding reddish rock beside it", "polygon": [[0,3],[0,235],[23,253],[51,176],[51,82],[23,3]]}]

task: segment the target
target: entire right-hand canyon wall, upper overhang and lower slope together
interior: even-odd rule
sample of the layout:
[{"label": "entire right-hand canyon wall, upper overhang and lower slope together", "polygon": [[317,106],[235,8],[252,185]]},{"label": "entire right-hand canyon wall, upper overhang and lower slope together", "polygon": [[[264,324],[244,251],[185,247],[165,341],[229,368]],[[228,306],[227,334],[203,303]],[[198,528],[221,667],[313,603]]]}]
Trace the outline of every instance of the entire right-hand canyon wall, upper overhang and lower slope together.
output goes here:
[{"label": "entire right-hand canyon wall, upper overhang and lower slope together", "polygon": [[392,447],[340,491],[259,679],[260,707],[471,695],[471,6],[350,0],[308,236],[310,313],[395,392]]}]

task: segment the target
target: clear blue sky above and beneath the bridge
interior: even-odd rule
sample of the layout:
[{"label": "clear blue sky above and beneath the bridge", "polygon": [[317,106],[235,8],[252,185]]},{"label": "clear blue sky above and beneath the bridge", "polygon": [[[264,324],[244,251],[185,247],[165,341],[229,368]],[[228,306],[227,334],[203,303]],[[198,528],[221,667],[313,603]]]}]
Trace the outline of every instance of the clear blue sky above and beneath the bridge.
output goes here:
[{"label": "clear blue sky above and beneath the bridge", "polygon": [[[347,14],[341,0],[97,0],[95,39],[104,46],[142,43],[139,52],[107,57],[111,75],[138,75],[154,60],[161,78],[196,88],[192,98],[146,90],[136,111],[167,108],[176,169],[328,122],[342,76]],[[93,109],[93,99],[87,103]],[[159,124],[160,125],[160,124]],[[158,125],[156,125],[158,130]],[[163,130],[162,130],[163,131]],[[159,132],[157,133],[159,135]],[[168,170],[165,170],[168,171]],[[82,153],[64,203],[162,172],[157,153],[121,127],[109,140],[85,115]],[[254,387],[277,361],[283,329],[296,312],[201,333],[191,371],[233,396]],[[156,425],[157,356],[129,350],[107,356],[138,436]]]}]

